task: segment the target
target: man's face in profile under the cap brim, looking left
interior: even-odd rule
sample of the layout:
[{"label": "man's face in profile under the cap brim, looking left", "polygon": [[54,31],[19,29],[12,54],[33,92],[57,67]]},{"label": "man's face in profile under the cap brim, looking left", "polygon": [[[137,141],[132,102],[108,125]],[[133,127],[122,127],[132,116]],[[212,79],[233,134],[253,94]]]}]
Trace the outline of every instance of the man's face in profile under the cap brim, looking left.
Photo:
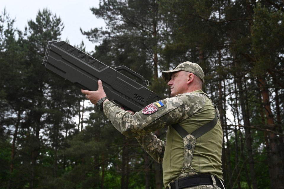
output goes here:
[{"label": "man's face in profile under the cap brim, looking left", "polygon": [[187,92],[188,74],[187,71],[183,70],[172,74],[172,79],[168,82],[171,87],[171,97]]}]

